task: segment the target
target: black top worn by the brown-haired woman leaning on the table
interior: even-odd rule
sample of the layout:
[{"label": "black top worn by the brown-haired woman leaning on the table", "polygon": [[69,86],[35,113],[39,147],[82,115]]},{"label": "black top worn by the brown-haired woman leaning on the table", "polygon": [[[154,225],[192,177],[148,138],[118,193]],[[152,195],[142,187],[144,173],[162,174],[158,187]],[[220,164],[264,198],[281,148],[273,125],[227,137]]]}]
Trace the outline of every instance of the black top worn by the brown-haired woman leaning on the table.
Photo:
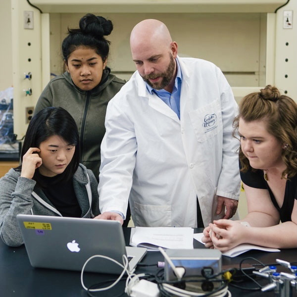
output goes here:
[{"label": "black top worn by the brown-haired woman leaning on the table", "polygon": [[256,189],[267,189],[274,207],[278,210],[282,222],[292,221],[294,201],[297,199],[297,176],[291,177],[286,182],[284,202],[278,206],[276,199],[264,179],[263,170],[252,171],[249,167],[247,172],[240,173],[242,181],[249,187]]}]

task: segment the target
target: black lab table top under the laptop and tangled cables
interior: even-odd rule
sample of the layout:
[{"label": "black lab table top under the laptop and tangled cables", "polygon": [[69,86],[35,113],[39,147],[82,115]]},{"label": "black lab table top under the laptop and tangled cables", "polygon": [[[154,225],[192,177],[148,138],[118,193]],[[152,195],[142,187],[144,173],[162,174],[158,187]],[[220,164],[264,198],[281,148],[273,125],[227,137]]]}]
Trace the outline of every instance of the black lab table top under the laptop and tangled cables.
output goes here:
[{"label": "black lab table top under the laptop and tangled cables", "polygon": [[[129,243],[130,228],[123,228],[126,243]],[[201,232],[200,229],[195,229],[195,232]],[[195,248],[204,248],[204,246],[194,240]],[[297,262],[297,249],[283,249],[280,252],[264,252],[258,250],[250,250],[240,256],[230,258],[222,257],[222,269],[238,267],[239,263],[244,260],[246,264],[257,264],[260,260],[265,265],[275,263],[275,260],[282,259],[288,262]],[[158,261],[163,261],[164,257],[159,251],[148,251],[142,263],[156,264]],[[262,266],[255,266],[257,269]],[[280,266],[278,269],[288,272],[285,267]],[[138,267],[136,273],[148,272],[155,274],[156,266]],[[29,262],[27,252],[24,246],[22,247],[7,247],[0,240],[0,296],[3,297],[87,297],[88,293],[82,288],[80,281],[80,272],[54,270],[44,268],[33,268]],[[86,286],[91,286],[102,282],[103,280],[113,279],[113,275],[102,275],[98,273],[85,273],[84,282]],[[257,279],[262,285],[268,284],[266,279]],[[239,284],[242,287],[254,287],[254,284],[242,282]],[[124,282],[120,282],[115,289],[109,292],[93,293],[94,296],[115,297],[124,292]],[[229,291],[232,296],[275,296],[273,291],[247,291],[234,288],[229,285]],[[293,296],[297,296],[295,291]],[[127,296],[123,294],[121,296]]]}]

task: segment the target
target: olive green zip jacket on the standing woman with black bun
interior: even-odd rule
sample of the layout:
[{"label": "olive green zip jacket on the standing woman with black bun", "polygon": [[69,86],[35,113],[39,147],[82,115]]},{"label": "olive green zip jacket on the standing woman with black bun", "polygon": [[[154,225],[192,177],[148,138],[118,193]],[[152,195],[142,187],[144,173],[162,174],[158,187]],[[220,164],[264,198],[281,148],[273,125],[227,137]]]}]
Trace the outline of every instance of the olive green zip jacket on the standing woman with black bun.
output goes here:
[{"label": "olive green zip jacket on the standing woman with black bun", "polygon": [[99,179],[100,145],[105,134],[105,113],[108,101],[125,84],[110,74],[106,67],[100,84],[91,91],[76,87],[68,72],[50,80],[36,104],[34,114],[45,107],[60,106],[75,119],[81,142],[81,163]]}]

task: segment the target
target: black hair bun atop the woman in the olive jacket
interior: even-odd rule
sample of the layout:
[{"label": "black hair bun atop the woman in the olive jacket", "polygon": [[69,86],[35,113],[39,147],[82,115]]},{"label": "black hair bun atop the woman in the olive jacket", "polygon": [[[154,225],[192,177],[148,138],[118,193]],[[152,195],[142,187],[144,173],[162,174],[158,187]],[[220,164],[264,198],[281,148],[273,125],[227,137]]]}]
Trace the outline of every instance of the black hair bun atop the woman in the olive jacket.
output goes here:
[{"label": "black hair bun atop the woman in the olive jacket", "polygon": [[97,38],[109,35],[113,29],[110,20],[92,13],[87,13],[80,19],[79,27],[83,33],[95,35]]}]

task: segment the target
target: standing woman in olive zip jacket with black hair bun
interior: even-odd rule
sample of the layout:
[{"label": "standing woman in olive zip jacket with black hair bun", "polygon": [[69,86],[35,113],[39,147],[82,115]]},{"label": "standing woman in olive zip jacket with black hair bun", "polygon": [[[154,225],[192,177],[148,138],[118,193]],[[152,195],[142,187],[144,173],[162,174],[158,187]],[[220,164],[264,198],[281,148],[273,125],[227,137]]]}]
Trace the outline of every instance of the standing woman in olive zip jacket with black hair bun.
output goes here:
[{"label": "standing woman in olive zip jacket with black hair bun", "polygon": [[79,28],[68,28],[62,43],[67,71],[49,82],[34,111],[61,106],[73,116],[80,134],[81,163],[94,172],[97,180],[106,106],[125,84],[106,66],[110,42],[105,36],[112,29],[110,20],[91,13],[80,19]]}]

